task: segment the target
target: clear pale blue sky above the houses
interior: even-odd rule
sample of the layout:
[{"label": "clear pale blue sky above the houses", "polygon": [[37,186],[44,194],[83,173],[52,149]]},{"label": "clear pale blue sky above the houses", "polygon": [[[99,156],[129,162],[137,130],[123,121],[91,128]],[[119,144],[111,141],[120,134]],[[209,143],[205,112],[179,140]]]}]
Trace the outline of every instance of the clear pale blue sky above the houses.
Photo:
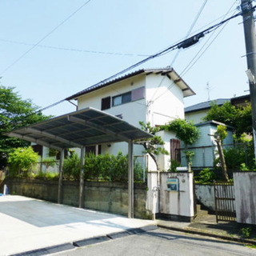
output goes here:
[{"label": "clear pale blue sky above the houses", "polygon": [[[30,98],[38,106],[49,106],[146,58],[142,55],[155,54],[184,39],[205,0],[90,0],[30,50],[86,2],[1,1],[2,85],[16,87],[22,98]],[[224,15],[228,18],[237,13],[239,5],[240,1],[234,0],[208,0],[192,34],[220,22]],[[185,106],[208,99],[207,83],[212,100],[248,94],[244,92],[249,86],[246,58],[242,57],[246,53],[242,17],[234,18],[221,30],[222,26],[197,45],[174,50],[135,70],[173,63],[174,70],[196,93],[185,99]],[[209,44],[184,74],[198,51],[202,53],[202,47]],[[30,52],[20,58],[27,50]],[[74,106],[66,102],[44,113],[58,115],[73,110]]]}]

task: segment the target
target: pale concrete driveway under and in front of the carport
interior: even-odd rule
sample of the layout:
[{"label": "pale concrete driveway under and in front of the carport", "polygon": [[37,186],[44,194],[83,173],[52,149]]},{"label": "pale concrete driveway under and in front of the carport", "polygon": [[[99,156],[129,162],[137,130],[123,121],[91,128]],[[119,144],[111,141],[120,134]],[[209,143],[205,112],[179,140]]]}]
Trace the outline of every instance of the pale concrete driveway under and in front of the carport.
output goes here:
[{"label": "pale concrete driveway under and in front of the carport", "polygon": [[0,255],[19,254],[65,243],[72,245],[79,240],[149,225],[154,225],[154,222],[34,198],[2,196]]}]

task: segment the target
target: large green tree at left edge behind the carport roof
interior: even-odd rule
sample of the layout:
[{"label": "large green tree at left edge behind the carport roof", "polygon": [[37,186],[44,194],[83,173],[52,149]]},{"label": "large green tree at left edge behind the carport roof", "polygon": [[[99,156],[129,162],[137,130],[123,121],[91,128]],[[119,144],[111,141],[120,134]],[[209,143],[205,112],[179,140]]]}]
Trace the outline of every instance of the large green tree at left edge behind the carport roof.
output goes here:
[{"label": "large green tree at left edge behind the carport roof", "polygon": [[30,143],[18,138],[6,137],[6,132],[16,128],[40,122],[50,116],[41,112],[35,113],[38,106],[30,99],[23,100],[14,87],[0,85],[0,169],[6,166],[8,154],[17,147],[28,146]]}]

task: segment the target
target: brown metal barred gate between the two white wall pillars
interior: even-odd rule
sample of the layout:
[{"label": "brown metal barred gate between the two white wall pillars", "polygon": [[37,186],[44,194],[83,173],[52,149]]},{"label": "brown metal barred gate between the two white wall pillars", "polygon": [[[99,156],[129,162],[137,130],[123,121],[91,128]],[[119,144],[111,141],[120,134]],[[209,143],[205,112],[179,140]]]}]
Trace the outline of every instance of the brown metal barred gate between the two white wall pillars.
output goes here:
[{"label": "brown metal barred gate between the two white wall pillars", "polygon": [[234,183],[214,182],[216,221],[235,222]]}]

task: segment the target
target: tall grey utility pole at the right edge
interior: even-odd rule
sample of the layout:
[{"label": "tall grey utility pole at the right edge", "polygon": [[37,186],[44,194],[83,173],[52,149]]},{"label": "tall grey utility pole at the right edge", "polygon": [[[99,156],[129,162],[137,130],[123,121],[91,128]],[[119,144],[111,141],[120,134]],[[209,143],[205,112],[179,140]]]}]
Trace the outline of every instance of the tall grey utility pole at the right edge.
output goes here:
[{"label": "tall grey utility pole at the right edge", "polygon": [[250,85],[250,102],[252,112],[252,127],[254,134],[254,155],[256,159],[256,32],[254,24],[254,9],[252,0],[242,0],[242,19],[246,40],[247,75]]}]

